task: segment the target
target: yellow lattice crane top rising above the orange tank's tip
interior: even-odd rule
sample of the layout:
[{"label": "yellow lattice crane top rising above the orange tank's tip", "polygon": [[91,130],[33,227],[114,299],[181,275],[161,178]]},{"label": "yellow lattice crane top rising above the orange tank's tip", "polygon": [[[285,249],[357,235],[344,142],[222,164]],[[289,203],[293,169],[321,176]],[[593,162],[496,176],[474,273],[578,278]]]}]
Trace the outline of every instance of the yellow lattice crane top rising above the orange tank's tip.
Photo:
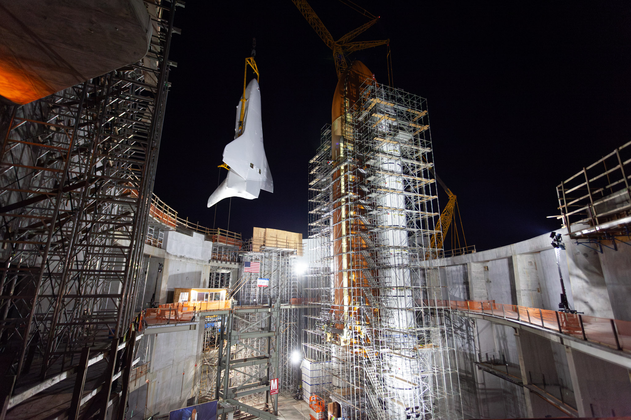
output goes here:
[{"label": "yellow lattice crane top rising above the orange tank's tip", "polygon": [[324,23],[320,20],[320,18],[315,14],[314,9],[311,8],[309,3],[306,0],[292,0],[293,4],[296,5],[302,16],[305,16],[309,25],[314,28],[315,33],[317,33],[322,41],[326,43],[327,47],[331,48],[333,51],[333,60],[335,62],[335,71],[338,73],[338,79],[342,76],[342,73],[348,68],[348,60],[346,60],[346,54],[351,52],[365,50],[366,48],[378,47],[379,45],[389,45],[390,40],[378,40],[378,41],[357,41],[351,42],[353,39],[357,38],[360,33],[370,28],[370,26],[377,23],[380,16],[372,16],[372,14],[367,11],[363,11],[362,13],[365,16],[368,16],[372,20],[367,23],[364,23],[357,29],[354,29],[343,35],[343,37],[339,38],[337,41],[333,39],[333,36],[327,30]]}]

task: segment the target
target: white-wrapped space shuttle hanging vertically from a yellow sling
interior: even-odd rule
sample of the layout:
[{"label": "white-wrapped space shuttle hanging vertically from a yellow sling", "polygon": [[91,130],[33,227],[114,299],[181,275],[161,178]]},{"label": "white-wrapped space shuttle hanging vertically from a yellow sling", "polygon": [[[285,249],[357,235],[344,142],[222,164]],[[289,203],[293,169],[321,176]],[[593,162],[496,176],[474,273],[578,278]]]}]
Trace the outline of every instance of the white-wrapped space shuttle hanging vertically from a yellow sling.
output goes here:
[{"label": "white-wrapped space shuttle hanging vertically from a yellow sling", "polygon": [[245,88],[245,115],[239,135],[241,101],[237,105],[235,139],[223,149],[223,162],[230,167],[228,176],[208,198],[211,207],[228,197],[258,198],[261,190],[274,192],[268,159],[263,149],[261,127],[261,89],[256,79]]}]

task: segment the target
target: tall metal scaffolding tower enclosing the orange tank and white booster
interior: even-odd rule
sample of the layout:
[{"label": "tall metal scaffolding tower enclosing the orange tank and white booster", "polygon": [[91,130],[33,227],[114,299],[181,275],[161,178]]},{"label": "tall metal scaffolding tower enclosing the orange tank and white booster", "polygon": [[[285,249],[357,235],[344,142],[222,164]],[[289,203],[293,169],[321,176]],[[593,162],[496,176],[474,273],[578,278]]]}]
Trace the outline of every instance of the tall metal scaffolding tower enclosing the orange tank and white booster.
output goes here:
[{"label": "tall metal scaffolding tower enclosing the orange tank and white booster", "polygon": [[427,101],[373,80],[358,92],[309,167],[304,353],[324,377],[311,392],[347,418],[455,419],[449,314],[428,303],[442,293]]}]

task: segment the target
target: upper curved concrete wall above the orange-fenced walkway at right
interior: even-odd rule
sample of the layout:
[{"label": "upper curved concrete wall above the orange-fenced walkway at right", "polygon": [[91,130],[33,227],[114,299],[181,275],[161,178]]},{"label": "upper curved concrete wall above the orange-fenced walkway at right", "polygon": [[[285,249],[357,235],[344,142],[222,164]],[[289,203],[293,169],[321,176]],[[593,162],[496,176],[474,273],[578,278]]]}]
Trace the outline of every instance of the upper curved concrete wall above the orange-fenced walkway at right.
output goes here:
[{"label": "upper curved concrete wall above the orange-fenced walkway at right", "polygon": [[[557,232],[564,235],[567,248],[559,251],[559,257],[570,305],[586,315],[631,320],[631,305],[627,304],[631,296],[631,246],[618,242],[615,250],[576,244],[565,236],[565,229]],[[558,310],[561,286],[557,256],[550,242],[550,234],[545,234],[435,261],[441,283],[449,288],[443,298],[466,298],[466,286],[472,300]]]}]

